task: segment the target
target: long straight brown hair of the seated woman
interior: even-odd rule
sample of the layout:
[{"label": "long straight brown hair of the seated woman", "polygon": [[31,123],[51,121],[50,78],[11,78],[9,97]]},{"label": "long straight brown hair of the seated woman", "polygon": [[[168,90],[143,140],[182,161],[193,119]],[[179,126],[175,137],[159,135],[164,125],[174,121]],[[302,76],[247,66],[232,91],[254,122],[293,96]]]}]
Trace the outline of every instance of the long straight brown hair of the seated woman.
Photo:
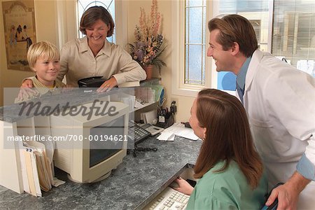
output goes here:
[{"label": "long straight brown hair of the seated woman", "polygon": [[216,172],[223,172],[234,160],[251,187],[256,188],[262,176],[262,161],[239,99],[221,90],[202,90],[197,96],[196,115],[200,127],[207,131],[194,168],[195,178],[201,178],[221,160],[225,165]]}]

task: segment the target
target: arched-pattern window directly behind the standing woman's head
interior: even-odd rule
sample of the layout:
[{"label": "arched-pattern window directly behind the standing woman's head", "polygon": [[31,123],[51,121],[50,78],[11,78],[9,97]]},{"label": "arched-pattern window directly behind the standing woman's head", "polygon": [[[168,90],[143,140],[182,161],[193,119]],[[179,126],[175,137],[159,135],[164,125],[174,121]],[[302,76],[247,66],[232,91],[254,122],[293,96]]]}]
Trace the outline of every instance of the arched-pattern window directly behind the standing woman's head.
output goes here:
[{"label": "arched-pattern window directly behind the standing woman's head", "polygon": [[[109,13],[111,13],[111,16],[113,17],[114,22],[115,21],[115,1],[114,0],[98,0],[98,1],[92,1],[92,0],[78,0],[78,25],[80,25],[80,18],[87,10],[87,8],[90,8],[91,6],[103,6],[107,10],[109,10]],[[83,34],[78,31],[79,38],[83,38]],[[107,37],[107,40],[113,43],[116,43],[116,29],[113,31],[113,36]]]}]

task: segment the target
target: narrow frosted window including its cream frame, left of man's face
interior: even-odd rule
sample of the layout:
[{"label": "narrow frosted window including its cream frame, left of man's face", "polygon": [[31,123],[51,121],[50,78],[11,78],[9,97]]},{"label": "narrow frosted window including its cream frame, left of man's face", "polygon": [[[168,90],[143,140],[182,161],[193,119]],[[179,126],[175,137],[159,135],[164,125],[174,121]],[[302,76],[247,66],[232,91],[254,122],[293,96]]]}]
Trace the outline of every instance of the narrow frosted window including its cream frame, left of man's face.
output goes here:
[{"label": "narrow frosted window including its cream frame, left of man's face", "polygon": [[211,59],[206,55],[211,3],[172,1],[172,94],[195,97],[200,89],[210,87]]}]

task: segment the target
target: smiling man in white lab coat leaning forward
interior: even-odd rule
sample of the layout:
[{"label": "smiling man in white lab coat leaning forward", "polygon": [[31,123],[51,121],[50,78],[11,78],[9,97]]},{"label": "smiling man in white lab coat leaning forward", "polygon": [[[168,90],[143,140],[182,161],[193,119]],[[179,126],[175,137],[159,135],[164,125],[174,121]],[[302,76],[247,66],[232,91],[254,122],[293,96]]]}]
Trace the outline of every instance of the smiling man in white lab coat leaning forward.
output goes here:
[{"label": "smiling man in white lab coat leaning forward", "polygon": [[237,75],[237,96],[248,113],[255,146],[267,169],[267,206],[315,208],[315,78],[258,49],[251,23],[240,15],[209,22],[208,56],[217,71]]}]

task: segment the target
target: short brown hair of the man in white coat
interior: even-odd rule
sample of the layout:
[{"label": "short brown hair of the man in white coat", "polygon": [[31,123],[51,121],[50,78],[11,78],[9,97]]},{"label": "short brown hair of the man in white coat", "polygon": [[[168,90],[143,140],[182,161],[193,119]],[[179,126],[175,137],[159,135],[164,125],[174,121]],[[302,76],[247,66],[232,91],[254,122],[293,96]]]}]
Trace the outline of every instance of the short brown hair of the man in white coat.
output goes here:
[{"label": "short brown hair of the man in white coat", "polygon": [[239,51],[246,57],[253,55],[258,48],[255,30],[246,18],[241,15],[225,15],[223,18],[214,18],[208,22],[209,31],[218,29],[217,42],[223,50],[232,48],[234,42],[239,44]]}]

